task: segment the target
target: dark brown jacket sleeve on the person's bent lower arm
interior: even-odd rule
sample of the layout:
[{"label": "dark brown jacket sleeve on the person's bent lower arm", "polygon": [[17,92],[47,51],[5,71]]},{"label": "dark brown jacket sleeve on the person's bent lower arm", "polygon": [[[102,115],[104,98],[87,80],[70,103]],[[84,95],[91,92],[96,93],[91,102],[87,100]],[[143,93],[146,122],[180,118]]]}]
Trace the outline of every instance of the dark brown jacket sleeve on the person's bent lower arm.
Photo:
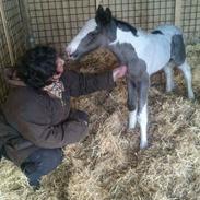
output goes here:
[{"label": "dark brown jacket sleeve on the person's bent lower arm", "polygon": [[55,149],[79,142],[87,133],[87,126],[75,120],[51,125],[51,117],[46,109],[32,106],[19,116],[17,130],[36,146]]}]

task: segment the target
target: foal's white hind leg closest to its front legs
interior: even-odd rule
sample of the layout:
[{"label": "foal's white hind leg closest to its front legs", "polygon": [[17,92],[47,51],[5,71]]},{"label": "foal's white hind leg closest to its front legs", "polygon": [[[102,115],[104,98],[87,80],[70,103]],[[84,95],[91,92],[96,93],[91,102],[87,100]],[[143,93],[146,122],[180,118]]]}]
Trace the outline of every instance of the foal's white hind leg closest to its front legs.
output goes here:
[{"label": "foal's white hind leg closest to its front legs", "polygon": [[166,78],[166,92],[172,92],[175,86],[174,73],[173,73],[174,66],[175,66],[174,62],[169,61],[163,69]]}]

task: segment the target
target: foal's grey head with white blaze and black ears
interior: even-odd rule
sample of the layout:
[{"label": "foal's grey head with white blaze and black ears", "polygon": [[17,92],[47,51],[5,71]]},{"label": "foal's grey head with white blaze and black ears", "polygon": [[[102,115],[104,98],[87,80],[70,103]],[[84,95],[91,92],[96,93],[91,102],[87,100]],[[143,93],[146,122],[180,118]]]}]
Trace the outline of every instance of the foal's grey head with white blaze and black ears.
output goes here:
[{"label": "foal's grey head with white blaze and black ears", "polygon": [[98,7],[95,19],[89,20],[67,47],[70,59],[77,60],[90,51],[106,46],[116,38],[111,11]]}]

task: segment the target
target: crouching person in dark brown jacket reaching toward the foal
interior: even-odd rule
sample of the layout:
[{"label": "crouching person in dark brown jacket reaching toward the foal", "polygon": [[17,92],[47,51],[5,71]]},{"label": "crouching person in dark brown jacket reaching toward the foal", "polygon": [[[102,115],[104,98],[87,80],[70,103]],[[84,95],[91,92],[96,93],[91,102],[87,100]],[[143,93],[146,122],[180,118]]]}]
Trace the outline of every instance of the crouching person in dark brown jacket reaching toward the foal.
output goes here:
[{"label": "crouching person in dark brown jacket reaching toward the foal", "polygon": [[10,74],[10,94],[3,105],[12,131],[3,134],[3,155],[39,186],[43,175],[62,162],[62,146],[79,142],[87,133],[89,116],[70,109],[70,96],[111,89],[126,74],[121,66],[101,74],[84,74],[63,68],[64,61],[51,47],[28,50]]}]

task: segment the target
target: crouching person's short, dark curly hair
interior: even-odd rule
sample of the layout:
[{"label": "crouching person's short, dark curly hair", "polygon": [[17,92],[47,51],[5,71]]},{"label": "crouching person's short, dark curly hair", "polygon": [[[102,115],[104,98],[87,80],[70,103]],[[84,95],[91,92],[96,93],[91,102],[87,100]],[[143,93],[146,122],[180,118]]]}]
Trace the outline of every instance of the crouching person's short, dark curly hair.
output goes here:
[{"label": "crouching person's short, dark curly hair", "polygon": [[36,46],[21,58],[16,66],[17,77],[34,89],[50,84],[49,79],[56,73],[56,49]]}]

